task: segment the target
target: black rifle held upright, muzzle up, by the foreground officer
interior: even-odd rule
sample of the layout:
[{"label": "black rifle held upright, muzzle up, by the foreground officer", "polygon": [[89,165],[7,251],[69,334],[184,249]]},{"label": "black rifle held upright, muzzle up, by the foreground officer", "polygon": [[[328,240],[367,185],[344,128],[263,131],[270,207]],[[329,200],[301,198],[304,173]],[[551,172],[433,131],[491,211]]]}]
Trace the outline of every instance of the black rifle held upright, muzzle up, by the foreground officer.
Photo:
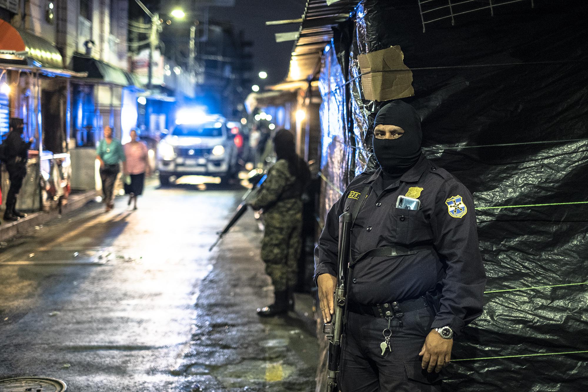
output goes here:
[{"label": "black rifle held upright, muzzle up, by the foreground officer", "polygon": [[337,374],[339,373],[339,358],[341,354],[341,334],[345,319],[347,295],[347,281],[349,274],[350,242],[352,215],[343,212],[339,217],[339,255],[337,260],[337,287],[335,288],[335,312],[331,322],[323,325],[323,332],[329,339],[327,353],[327,391],[335,392],[337,388]]}]

